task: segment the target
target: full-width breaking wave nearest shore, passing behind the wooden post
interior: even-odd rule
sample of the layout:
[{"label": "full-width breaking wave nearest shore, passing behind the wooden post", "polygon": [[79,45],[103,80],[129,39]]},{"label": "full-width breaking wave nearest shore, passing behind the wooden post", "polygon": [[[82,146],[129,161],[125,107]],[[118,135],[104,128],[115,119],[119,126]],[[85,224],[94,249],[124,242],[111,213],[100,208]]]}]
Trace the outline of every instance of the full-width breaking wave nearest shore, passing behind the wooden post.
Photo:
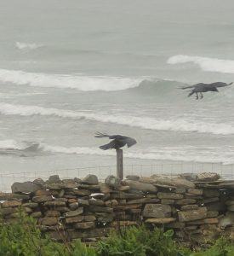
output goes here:
[{"label": "full-width breaking wave nearest shore, passing behind the wooden post", "polygon": [[[17,143],[14,140],[0,141],[0,150],[26,151],[25,156],[35,152],[44,152],[49,154],[89,154],[89,155],[105,155],[115,156],[115,150],[103,151],[100,148],[88,147],[71,147],[54,146],[46,143]],[[130,151],[130,152],[129,152]],[[144,150],[130,149],[124,153],[124,157],[141,160],[174,160],[185,162],[202,162],[202,163],[222,163],[225,165],[234,164],[233,147],[162,147],[162,148],[146,148]]]}]

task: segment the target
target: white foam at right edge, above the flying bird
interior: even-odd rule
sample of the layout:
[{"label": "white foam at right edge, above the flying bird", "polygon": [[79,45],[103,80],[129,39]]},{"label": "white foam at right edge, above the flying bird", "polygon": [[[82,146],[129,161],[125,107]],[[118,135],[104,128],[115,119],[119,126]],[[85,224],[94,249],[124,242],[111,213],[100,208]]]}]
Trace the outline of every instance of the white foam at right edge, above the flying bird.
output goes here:
[{"label": "white foam at right edge, above the flying bird", "polygon": [[174,55],[168,59],[168,64],[183,64],[187,62],[197,64],[203,71],[234,73],[234,60],[221,60],[192,55]]}]

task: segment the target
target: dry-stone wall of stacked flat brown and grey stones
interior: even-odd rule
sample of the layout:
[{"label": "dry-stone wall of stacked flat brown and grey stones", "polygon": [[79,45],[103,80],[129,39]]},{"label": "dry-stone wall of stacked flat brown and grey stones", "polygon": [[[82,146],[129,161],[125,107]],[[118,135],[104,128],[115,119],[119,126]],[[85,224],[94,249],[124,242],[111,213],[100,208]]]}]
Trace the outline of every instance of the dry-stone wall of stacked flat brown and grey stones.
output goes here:
[{"label": "dry-stone wall of stacked flat brown and grey stones", "polygon": [[54,239],[95,241],[111,229],[145,223],[173,229],[179,241],[201,242],[232,234],[234,181],[215,173],[180,177],[128,176],[121,181],[94,175],[63,179],[57,175],[14,183],[12,193],[0,193],[5,222],[19,217],[18,208]]}]

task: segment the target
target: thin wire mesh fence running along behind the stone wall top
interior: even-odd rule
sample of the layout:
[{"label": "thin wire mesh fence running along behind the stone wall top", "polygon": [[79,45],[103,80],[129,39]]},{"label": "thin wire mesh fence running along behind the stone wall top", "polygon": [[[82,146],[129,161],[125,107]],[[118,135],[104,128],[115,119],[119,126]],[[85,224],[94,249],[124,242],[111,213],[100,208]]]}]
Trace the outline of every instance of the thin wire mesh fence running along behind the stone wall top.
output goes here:
[{"label": "thin wire mesh fence running along behind the stone wall top", "polygon": [[[0,173],[0,191],[9,192],[15,182],[33,181],[37,178],[47,180],[51,175],[59,175],[60,178],[85,177],[94,174],[103,181],[108,175],[116,175],[116,166],[93,166],[71,169],[57,169],[34,172],[2,172]],[[180,173],[217,172],[223,178],[232,179],[234,165],[222,165],[214,163],[172,163],[157,165],[124,165],[124,177],[127,175],[138,175],[150,177],[153,174],[169,177]]]}]

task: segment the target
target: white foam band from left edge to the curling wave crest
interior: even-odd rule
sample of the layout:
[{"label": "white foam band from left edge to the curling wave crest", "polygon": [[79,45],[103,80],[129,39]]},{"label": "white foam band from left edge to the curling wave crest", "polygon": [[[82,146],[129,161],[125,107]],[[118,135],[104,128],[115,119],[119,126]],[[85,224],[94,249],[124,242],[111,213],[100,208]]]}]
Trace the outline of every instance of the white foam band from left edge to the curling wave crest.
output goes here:
[{"label": "white foam band from left edge to the curling wave crest", "polygon": [[126,90],[137,87],[142,79],[121,77],[87,77],[82,75],[27,73],[20,70],[0,69],[0,81],[36,87],[89,90]]}]

